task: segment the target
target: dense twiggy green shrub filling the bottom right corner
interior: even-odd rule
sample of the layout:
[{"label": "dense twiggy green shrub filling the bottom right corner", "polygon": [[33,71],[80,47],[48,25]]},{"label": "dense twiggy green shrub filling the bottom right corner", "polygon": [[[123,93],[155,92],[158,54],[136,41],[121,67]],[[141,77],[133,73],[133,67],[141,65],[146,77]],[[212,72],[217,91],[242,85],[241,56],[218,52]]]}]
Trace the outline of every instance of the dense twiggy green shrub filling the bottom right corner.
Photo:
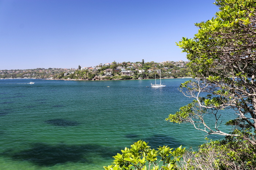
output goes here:
[{"label": "dense twiggy green shrub filling the bottom right corner", "polygon": [[255,169],[255,135],[241,133],[239,137],[226,137],[222,141],[206,139],[207,143],[200,145],[197,151],[186,151],[183,155],[182,167],[189,170]]}]

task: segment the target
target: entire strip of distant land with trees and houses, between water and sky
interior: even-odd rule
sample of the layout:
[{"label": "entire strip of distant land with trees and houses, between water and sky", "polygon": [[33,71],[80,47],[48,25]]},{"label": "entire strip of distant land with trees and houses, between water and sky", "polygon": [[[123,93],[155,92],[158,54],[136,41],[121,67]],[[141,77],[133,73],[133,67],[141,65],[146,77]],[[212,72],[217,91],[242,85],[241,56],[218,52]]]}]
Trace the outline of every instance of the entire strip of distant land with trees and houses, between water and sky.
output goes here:
[{"label": "entire strip of distant land with trees and houses, between water and sky", "polygon": [[36,68],[27,70],[0,70],[0,79],[36,78],[55,80],[135,80],[188,77],[188,62],[123,62],[106,63],[94,67],[75,68]]}]

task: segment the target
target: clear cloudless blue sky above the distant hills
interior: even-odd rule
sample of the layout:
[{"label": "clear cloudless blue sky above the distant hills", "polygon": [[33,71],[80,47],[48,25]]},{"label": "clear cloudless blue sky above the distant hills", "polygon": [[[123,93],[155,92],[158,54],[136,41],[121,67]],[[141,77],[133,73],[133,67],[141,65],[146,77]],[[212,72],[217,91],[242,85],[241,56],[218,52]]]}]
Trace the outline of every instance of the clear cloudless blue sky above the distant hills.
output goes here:
[{"label": "clear cloudless blue sky above the distant hills", "polygon": [[186,59],[214,0],[0,0],[0,70]]}]

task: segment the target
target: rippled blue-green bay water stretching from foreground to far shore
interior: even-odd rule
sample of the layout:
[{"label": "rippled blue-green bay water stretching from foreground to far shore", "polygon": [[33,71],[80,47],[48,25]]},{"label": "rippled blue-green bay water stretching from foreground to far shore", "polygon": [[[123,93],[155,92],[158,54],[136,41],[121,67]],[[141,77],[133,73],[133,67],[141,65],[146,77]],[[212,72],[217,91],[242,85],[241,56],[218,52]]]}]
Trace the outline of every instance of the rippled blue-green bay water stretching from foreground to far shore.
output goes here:
[{"label": "rippled blue-green bay water stretching from foreground to far shore", "polygon": [[153,80],[2,79],[0,167],[100,170],[139,139],[196,148],[206,134],[165,121],[191,100],[177,90],[185,80],[150,88]]}]

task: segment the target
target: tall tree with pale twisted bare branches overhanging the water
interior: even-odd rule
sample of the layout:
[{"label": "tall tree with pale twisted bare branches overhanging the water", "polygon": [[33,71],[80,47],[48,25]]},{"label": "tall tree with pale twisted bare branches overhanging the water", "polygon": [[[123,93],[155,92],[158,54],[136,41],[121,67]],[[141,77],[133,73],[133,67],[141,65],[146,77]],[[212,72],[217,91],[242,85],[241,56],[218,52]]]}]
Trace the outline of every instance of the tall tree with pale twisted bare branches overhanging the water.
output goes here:
[{"label": "tall tree with pale twisted bare branches overhanging the water", "polygon": [[[218,111],[233,109],[237,118],[227,122],[235,129],[256,130],[256,0],[216,0],[216,17],[197,23],[193,39],[182,38],[177,45],[187,52],[194,79],[181,84],[193,102],[181,107],[167,121],[189,122],[208,134],[238,136],[219,129]],[[215,125],[205,121],[212,115]]]}]

